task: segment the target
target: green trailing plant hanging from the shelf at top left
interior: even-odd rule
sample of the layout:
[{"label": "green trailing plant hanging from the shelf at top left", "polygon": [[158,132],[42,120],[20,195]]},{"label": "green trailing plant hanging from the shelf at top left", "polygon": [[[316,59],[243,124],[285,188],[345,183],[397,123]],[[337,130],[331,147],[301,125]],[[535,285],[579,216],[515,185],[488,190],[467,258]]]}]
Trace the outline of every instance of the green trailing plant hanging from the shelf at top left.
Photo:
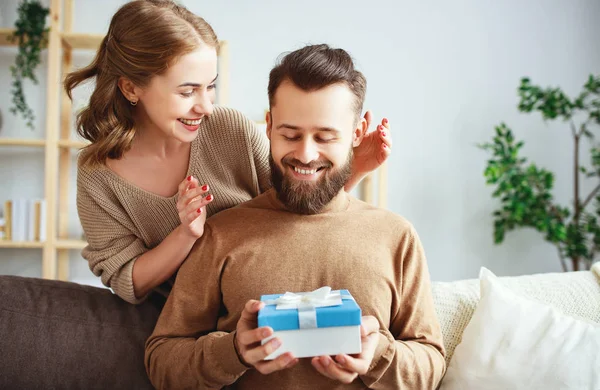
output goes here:
[{"label": "green trailing plant hanging from the shelf at top left", "polygon": [[15,32],[9,38],[19,46],[15,65],[10,67],[13,77],[11,90],[13,107],[10,108],[10,112],[15,115],[20,113],[31,129],[33,129],[35,115],[25,100],[23,81],[29,79],[34,84],[38,84],[35,68],[40,64],[42,48],[48,43],[46,16],[49,13],[50,10],[37,0],[23,0],[19,4]]}]

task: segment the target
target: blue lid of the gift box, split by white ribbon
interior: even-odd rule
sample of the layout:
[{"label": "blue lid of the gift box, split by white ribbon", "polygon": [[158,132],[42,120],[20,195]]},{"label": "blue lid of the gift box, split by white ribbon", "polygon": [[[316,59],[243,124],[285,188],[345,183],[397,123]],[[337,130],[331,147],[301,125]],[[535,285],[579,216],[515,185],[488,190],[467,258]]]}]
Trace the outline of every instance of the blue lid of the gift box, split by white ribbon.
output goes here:
[{"label": "blue lid of the gift box, split by white ribbon", "polygon": [[[353,326],[361,324],[361,309],[348,290],[339,290],[342,304],[337,306],[316,307],[317,328]],[[263,302],[274,301],[283,294],[262,295]],[[300,329],[297,308],[278,310],[277,305],[270,304],[258,313],[258,326],[270,326],[274,331]]]}]

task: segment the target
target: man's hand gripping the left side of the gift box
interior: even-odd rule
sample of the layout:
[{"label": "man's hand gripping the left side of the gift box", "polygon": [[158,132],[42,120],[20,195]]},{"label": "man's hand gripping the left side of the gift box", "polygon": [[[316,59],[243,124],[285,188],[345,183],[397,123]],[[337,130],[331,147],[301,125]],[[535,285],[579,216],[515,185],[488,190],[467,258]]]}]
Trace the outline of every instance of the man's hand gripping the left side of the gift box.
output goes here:
[{"label": "man's hand gripping the left side of the gift box", "polygon": [[237,323],[234,345],[242,363],[256,368],[261,374],[270,374],[293,367],[298,363],[298,359],[287,352],[273,360],[264,360],[279,348],[281,340],[273,338],[265,345],[261,345],[261,340],[273,334],[273,329],[268,326],[257,328],[256,316],[263,306],[263,302],[256,300],[246,302],[242,316]]}]

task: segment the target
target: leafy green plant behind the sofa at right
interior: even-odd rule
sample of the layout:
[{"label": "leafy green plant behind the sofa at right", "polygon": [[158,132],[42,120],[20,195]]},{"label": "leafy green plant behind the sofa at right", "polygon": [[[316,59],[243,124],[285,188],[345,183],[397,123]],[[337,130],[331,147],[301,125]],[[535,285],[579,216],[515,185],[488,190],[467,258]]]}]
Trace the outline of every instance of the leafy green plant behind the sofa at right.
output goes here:
[{"label": "leafy green plant behind the sofa at right", "polygon": [[[568,97],[560,88],[540,86],[522,78],[518,109],[539,112],[544,120],[562,120],[573,135],[573,203],[554,201],[554,174],[520,154],[523,141],[501,123],[492,142],[479,145],[491,154],[484,176],[500,200],[494,211],[494,242],[500,244],[511,230],[530,227],[556,246],[564,271],[591,268],[600,252],[600,145],[592,130],[600,125],[600,76],[590,75],[582,92]],[[583,118],[576,123],[576,118]],[[590,147],[589,164],[580,162],[582,141]],[[594,189],[582,193],[581,180],[593,180]],[[570,261],[570,267],[568,261]]]}]

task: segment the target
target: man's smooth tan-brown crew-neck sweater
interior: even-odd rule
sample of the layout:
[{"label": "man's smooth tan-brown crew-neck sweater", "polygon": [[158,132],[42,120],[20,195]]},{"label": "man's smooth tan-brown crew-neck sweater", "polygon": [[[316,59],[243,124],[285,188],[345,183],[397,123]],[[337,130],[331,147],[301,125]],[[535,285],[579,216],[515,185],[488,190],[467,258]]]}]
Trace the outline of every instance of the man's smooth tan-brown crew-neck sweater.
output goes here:
[{"label": "man's smooth tan-brown crew-neck sweater", "polygon": [[[346,193],[317,215],[286,211],[274,190],[211,218],[146,343],[159,389],[434,389],[445,371],[423,248],[409,222]],[[269,375],[233,345],[244,304],[261,294],[348,289],[380,323],[369,372],[342,385],[310,359]]]}]

